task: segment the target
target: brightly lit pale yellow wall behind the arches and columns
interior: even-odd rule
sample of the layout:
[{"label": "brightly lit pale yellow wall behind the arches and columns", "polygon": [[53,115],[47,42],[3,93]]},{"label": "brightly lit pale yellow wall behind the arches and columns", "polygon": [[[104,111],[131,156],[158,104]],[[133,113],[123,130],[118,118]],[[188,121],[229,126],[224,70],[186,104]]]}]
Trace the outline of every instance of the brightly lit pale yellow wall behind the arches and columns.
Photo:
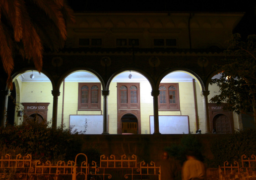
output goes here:
[{"label": "brightly lit pale yellow wall behind the arches and columns", "polygon": [[[49,102],[47,120],[52,118],[52,101],[51,94],[52,86],[50,82],[21,82],[17,80],[20,87],[20,102]],[[197,130],[195,102],[193,92],[193,82],[178,82],[179,83],[179,98],[180,111],[159,111],[159,115],[187,115],[189,116],[190,132]],[[197,105],[198,105],[198,119],[199,128],[204,133],[205,119],[203,109],[203,97],[199,83],[196,84]],[[109,117],[109,133],[117,133],[117,83],[111,82],[108,96],[108,117]],[[101,87],[102,88],[102,87]],[[218,87],[210,86],[210,100],[218,92]],[[61,125],[62,117],[62,95],[63,84],[59,89],[60,96],[58,97],[58,113],[57,126]],[[150,133],[150,115],[153,113],[153,97],[151,96],[151,86],[149,82],[140,83],[140,98],[141,98],[141,132],[142,134]],[[63,106],[63,124],[69,127],[70,115],[101,115],[103,114],[103,96],[101,96],[101,111],[78,111],[78,82],[65,82],[65,96]],[[18,122],[18,119],[16,120]],[[234,115],[234,127],[239,128],[238,118]]]}]

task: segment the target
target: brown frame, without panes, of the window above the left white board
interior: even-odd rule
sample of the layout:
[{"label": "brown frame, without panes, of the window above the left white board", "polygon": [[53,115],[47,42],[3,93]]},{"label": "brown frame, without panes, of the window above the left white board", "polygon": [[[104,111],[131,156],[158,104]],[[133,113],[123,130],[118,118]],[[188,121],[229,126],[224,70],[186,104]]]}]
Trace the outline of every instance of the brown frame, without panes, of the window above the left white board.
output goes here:
[{"label": "brown frame, without panes, of the window above the left white board", "polygon": [[[88,86],[88,103],[82,103],[82,91],[83,86]],[[98,87],[98,103],[91,103],[92,100],[92,87]],[[78,110],[79,111],[100,111],[101,110],[101,83],[78,83]]]}]

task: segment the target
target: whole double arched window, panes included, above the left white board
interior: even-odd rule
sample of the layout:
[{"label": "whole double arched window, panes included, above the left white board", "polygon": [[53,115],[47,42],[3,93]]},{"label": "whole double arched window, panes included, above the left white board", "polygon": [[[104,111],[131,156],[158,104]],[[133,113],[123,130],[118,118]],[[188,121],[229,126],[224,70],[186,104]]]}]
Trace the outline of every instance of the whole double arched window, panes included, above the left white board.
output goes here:
[{"label": "whole double arched window, panes included, above the left white board", "polygon": [[100,83],[79,83],[78,110],[100,110]]}]

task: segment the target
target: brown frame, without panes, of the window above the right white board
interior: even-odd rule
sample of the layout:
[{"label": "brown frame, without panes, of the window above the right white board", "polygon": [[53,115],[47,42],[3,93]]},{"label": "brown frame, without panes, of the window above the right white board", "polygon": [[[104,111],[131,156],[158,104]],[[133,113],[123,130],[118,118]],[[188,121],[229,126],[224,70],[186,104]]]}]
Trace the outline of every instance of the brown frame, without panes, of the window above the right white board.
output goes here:
[{"label": "brown frame, without panes, of the window above the right white board", "polygon": [[[160,92],[158,95],[158,110],[159,111],[179,111],[180,110],[180,102],[179,102],[179,84],[178,83],[160,83],[159,88],[161,86],[165,87],[166,97],[169,97],[169,87],[174,86],[175,90],[175,103],[170,103],[169,98],[166,98],[166,103],[160,104]],[[159,89],[158,88],[158,89]]]}]

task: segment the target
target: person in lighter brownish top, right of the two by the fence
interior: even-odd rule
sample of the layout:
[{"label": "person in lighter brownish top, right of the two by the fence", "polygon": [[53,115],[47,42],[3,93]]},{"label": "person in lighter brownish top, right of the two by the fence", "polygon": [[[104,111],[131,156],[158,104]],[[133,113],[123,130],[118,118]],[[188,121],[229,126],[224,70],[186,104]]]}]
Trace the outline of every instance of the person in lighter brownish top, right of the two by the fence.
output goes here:
[{"label": "person in lighter brownish top, right of the two by the fence", "polygon": [[205,165],[196,159],[195,152],[186,152],[186,161],[182,166],[182,180],[205,180]]}]

